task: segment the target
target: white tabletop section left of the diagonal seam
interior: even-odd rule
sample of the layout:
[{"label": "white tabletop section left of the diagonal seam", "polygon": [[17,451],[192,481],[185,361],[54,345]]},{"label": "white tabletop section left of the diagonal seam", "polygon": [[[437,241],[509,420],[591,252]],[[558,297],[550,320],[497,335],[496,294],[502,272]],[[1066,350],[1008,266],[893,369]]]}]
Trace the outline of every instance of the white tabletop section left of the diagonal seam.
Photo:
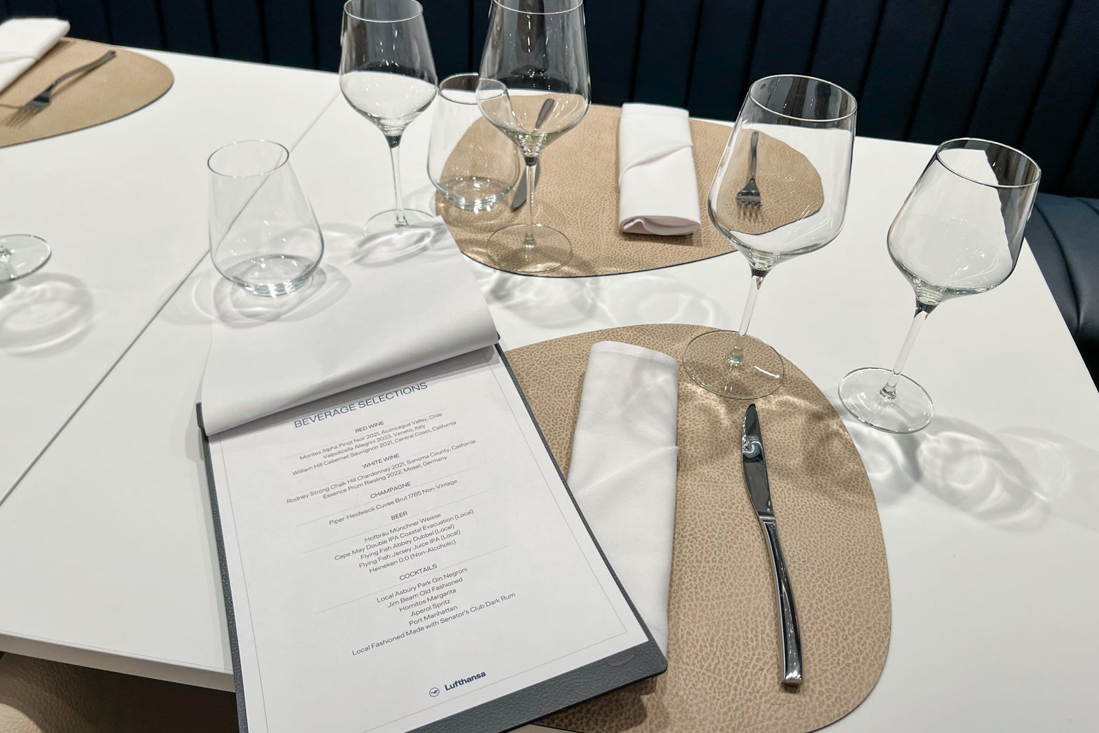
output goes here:
[{"label": "white tabletop section left of the diagonal seam", "polygon": [[206,158],[236,140],[292,144],[338,92],[318,71],[149,55],[175,75],[153,104],[0,148],[0,233],[53,247],[33,278],[0,284],[0,499],[202,257]]}]

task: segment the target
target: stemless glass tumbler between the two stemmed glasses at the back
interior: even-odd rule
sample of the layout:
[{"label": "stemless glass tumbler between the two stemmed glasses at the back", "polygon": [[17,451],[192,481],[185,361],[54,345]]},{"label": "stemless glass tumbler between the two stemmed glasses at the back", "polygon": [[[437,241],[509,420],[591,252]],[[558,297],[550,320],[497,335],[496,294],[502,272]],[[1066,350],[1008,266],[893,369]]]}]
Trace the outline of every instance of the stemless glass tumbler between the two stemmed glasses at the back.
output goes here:
[{"label": "stemless glass tumbler between the two stemmed glasses at the back", "polygon": [[439,82],[428,148],[431,182],[467,211],[490,209],[519,179],[514,146],[477,107],[477,79],[455,74]]}]

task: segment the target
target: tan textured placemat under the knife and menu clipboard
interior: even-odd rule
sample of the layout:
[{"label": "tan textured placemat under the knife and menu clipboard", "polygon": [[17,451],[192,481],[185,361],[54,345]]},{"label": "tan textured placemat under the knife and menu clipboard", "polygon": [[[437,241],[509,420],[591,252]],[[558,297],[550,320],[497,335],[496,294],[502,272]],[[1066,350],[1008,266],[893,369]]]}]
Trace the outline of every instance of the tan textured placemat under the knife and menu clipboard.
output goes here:
[{"label": "tan textured placemat under the knife and menu clipboard", "polygon": [[[630,326],[509,352],[562,470],[591,344],[622,341],[678,358],[708,330]],[[789,362],[781,388],[756,401],[804,654],[801,688],[779,684],[770,557],[741,468],[747,404],[711,395],[680,371],[668,671],[540,724],[582,733],[804,733],[847,714],[874,688],[890,631],[877,504],[840,417]]]}]

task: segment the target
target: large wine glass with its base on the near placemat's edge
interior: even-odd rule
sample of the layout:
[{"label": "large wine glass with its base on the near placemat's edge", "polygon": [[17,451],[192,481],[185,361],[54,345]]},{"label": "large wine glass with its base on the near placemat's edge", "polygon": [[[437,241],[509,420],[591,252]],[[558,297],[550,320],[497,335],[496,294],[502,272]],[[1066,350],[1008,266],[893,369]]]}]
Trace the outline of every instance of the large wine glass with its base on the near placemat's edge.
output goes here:
[{"label": "large wine glass with its base on the near placemat's edge", "polygon": [[748,323],[764,277],[843,229],[856,108],[842,87],[807,76],[748,88],[707,198],[710,221],[752,268],[747,302],[737,331],[696,336],[682,359],[711,392],[755,399],[781,384],[782,358],[747,335]]}]

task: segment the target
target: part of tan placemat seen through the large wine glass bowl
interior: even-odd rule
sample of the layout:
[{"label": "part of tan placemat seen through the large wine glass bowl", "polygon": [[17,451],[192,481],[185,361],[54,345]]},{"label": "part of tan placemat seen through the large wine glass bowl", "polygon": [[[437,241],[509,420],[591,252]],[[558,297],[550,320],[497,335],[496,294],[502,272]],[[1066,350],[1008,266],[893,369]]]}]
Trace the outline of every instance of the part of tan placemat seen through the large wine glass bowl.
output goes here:
[{"label": "part of tan placemat seen through the large wine glass bowl", "polygon": [[718,221],[732,232],[763,234],[811,216],[824,206],[824,186],[817,168],[786,143],[759,133],[756,141],[756,188],[763,206],[744,206],[736,193],[747,184],[752,135],[736,138],[725,184],[718,195]]}]

